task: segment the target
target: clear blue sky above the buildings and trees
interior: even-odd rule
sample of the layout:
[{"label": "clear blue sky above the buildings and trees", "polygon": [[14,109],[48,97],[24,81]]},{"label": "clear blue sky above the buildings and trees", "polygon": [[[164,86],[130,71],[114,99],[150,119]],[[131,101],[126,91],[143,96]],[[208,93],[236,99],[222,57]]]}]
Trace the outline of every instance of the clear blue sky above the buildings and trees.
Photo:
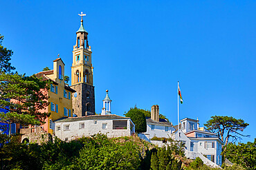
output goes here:
[{"label": "clear blue sky above the buildings and trees", "polygon": [[0,34],[19,73],[53,69],[60,54],[71,76],[82,11],[97,113],[109,89],[113,114],[159,105],[176,125],[180,81],[180,118],[242,118],[247,142],[256,138],[255,9],[256,1],[1,1]]}]

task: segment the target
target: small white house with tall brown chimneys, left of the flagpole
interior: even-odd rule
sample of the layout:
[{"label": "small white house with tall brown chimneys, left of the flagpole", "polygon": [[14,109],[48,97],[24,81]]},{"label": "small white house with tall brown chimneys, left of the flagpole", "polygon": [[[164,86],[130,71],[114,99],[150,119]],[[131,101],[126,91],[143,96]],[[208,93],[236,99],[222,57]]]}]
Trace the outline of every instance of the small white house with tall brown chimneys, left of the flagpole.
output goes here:
[{"label": "small white house with tall brown chimneys, left of the flagpole", "polygon": [[151,118],[146,118],[147,131],[138,134],[140,138],[151,140],[153,137],[170,138],[174,127],[167,120],[159,118],[159,106],[153,105],[151,107]]}]

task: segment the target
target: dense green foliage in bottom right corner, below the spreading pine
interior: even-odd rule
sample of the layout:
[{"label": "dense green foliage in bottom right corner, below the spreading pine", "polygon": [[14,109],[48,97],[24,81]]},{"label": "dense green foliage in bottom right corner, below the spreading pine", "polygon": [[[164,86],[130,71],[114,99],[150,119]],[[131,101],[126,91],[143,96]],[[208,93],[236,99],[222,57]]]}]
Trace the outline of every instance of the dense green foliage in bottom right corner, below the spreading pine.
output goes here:
[{"label": "dense green foliage in bottom right corner, below the spreading pine", "polygon": [[229,143],[223,155],[233,163],[240,164],[246,169],[256,169],[256,138],[254,142]]}]

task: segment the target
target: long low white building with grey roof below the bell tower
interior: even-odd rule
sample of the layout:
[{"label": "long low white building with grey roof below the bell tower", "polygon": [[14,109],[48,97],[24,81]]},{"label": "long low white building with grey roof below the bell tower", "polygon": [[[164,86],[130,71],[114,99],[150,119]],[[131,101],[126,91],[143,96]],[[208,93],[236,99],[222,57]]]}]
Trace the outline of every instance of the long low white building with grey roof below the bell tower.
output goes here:
[{"label": "long low white building with grey roof below the bell tower", "polygon": [[131,118],[114,114],[71,117],[55,121],[55,136],[66,141],[98,133],[108,137],[120,137],[131,136],[134,132],[135,125]]}]

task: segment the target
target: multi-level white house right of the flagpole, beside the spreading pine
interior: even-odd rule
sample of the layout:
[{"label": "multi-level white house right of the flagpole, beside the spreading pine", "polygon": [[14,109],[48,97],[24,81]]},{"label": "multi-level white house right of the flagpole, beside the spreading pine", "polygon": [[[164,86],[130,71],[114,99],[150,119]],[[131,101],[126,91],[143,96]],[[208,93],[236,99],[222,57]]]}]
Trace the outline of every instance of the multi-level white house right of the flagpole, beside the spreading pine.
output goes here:
[{"label": "multi-level white house right of the flagpole, beside the spreading pine", "polygon": [[172,134],[175,140],[183,141],[186,149],[186,156],[188,158],[205,157],[214,162],[214,164],[221,165],[221,146],[223,142],[214,134],[203,127],[199,127],[199,120],[191,118],[184,118],[181,124],[174,126],[176,131]]}]

